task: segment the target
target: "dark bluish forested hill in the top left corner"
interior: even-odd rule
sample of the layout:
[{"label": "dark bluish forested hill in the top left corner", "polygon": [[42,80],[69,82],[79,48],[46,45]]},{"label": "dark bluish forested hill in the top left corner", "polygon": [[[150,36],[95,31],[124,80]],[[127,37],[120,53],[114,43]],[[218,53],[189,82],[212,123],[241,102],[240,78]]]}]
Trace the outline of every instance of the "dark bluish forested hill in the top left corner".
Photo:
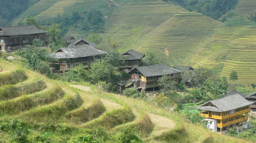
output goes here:
[{"label": "dark bluish forested hill in the top left corner", "polygon": [[7,26],[39,0],[0,0],[0,25]]}]

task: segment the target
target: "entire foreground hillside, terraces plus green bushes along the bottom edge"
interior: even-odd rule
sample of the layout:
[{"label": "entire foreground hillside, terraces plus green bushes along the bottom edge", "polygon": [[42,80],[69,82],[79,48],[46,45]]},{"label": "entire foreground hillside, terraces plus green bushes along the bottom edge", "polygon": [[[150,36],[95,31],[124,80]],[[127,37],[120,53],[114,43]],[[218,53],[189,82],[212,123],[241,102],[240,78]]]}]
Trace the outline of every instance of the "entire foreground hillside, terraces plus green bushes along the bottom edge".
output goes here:
[{"label": "entire foreground hillside, terraces plus green bushes along the bottom edge", "polygon": [[78,143],[96,137],[113,143],[130,135],[126,129],[145,143],[202,143],[207,137],[218,143],[250,143],[211,132],[141,99],[105,93],[87,83],[47,79],[16,60],[0,59],[0,66],[0,143]]}]

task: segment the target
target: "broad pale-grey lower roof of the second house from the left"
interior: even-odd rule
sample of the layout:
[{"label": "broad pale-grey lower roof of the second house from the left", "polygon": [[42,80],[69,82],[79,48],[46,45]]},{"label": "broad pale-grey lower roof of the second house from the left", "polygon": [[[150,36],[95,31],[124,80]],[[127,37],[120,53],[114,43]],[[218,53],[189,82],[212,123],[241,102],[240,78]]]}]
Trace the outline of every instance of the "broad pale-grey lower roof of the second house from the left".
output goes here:
[{"label": "broad pale-grey lower roof of the second house from the left", "polygon": [[55,59],[69,59],[69,58],[80,58],[87,56],[102,55],[107,52],[97,50],[92,45],[76,45],[68,48],[60,48],[55,53],[51,53],[49,56]]}]

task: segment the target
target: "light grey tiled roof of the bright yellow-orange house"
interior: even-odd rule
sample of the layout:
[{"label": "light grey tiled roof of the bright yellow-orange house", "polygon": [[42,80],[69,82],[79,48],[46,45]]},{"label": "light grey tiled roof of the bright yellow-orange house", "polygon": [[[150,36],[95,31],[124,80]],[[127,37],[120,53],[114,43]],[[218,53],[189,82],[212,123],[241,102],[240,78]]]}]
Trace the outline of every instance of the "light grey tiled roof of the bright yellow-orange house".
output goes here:
[{"label": "light grey tiled roof of the bright yellow-orange house", "polygon": [[[215,105],[215,108],[206,106],[206,104],[209,102],[212,103],[213,105]],[[234,95],[229,95],[229,96],[226,96],[223,98],[219,98],[216,100],[211,100],[209,102],[207,102],[199,107],[195,107],[195,109],[216,111],[216,112],[226,112],[226,111],[230,111],[230,110],[237,109],[240,107],[248,106],[253,103],[253,102],[247,101],[245,98],[243,98],[238,93],[234,94]]]}]

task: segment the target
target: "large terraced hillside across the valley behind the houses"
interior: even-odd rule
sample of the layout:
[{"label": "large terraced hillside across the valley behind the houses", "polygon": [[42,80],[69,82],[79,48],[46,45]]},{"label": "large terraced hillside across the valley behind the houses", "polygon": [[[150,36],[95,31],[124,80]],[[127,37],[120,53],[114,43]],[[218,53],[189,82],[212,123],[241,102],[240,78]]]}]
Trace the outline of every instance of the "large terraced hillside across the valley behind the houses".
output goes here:
[{"label": "large terraced hillside across the valley behind the houses", "polygon": [[[221,69],[229,77],[236,70],[236,84],[256,81],[256,26],[240,16],[221,23],[197,12],[161,0],[41,0],[14,22],[27,14],[38,20],[57,17],[64,11],[88,11],[96,8],[107,20],[104,36],[119,45],[119,52],[133,48],[145,53],[168,51],[169,64]],[[239,0],[233,12],[245,19],[255,14],[255,0]],[[249,20],[250,21],[250,20]],[[81,33],[75,33],[80,35]]]}]

